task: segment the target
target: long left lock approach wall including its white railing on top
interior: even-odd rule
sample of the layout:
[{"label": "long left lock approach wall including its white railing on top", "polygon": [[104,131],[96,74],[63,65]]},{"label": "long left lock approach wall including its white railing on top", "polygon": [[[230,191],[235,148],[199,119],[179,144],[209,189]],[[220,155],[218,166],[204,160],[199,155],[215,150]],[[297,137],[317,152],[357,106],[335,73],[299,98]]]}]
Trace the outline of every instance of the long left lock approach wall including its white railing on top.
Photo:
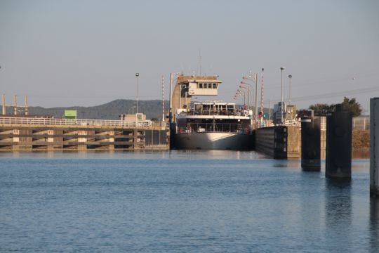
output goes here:
[{"label": "long left lock approach wall including its white railing on top", "polygon": [[[0,116],[0,150],[168,149],[166,129],[150,120]],[[159,143],[147,141],[157,134]]]}]

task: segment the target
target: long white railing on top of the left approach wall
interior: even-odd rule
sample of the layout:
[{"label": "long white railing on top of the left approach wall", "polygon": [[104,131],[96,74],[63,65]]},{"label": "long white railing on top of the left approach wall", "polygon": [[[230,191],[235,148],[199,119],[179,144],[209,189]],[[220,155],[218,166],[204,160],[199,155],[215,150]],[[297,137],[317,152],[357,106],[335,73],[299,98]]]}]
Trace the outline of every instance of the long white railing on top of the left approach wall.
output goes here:
[{"label": "long white railing on top of the left approach wall", "polygon": [[22,125],[58,125],[58,126],[121,126],[121,127],[148,127],[151,120],[124,121],[108,119],[53,119],[37,117],[0,117],[0,124]]}]

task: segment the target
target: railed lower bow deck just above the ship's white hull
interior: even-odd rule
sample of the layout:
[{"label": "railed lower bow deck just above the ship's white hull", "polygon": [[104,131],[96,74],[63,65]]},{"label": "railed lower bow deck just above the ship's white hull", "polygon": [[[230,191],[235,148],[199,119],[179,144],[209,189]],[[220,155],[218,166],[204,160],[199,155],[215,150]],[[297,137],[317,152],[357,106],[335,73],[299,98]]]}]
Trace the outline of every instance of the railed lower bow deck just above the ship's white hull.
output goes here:
[{"label": "railed lower bow deck just above the ship's white hull", "polygon": [[249,127],[241,127],[238,123],[191,123],[187,126],[179,126],[176,129],[177,134],[182,133],[204,133],[204,132],[225,132],[237,134],[250,134]]}]

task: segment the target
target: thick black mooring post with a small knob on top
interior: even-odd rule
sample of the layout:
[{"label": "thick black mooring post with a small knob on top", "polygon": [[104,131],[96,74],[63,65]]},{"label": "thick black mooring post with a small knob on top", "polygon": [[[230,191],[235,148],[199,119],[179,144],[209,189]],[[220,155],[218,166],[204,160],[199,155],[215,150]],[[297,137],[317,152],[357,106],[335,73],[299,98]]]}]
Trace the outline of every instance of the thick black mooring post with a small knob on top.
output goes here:
[{"label": "thick black mooring post with a small knob on top", "polygon": [[340,105],[326,115],[325,176],[352,178],[352,113],[343,112]]}]

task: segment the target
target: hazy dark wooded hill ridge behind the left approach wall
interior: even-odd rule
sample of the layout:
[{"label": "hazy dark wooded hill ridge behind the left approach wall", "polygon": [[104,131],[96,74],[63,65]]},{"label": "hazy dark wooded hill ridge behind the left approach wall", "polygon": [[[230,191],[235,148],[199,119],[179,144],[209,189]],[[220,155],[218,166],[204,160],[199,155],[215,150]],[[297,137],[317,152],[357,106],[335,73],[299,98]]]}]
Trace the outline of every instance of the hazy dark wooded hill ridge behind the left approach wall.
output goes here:
[{"label": "hazy dark wooded hill ridge behind the left approach wall", "polygon": [[[167,111],[168,101],[165,101],[165,108]],[[29,115],[51,115],[55,118],[62,118],[65,110],[77,110],[79,119],[119,119],[121,114],[135,113],[135,100],[117,99],[103,105],[91,107],[42,108],[40,106],[30,106]],[[147,119],[161,119],[162,100],[140,100],[138,102],[138,112],[145,113]],[[7,108],[7,114],[13,114],[13,108]]]}]

